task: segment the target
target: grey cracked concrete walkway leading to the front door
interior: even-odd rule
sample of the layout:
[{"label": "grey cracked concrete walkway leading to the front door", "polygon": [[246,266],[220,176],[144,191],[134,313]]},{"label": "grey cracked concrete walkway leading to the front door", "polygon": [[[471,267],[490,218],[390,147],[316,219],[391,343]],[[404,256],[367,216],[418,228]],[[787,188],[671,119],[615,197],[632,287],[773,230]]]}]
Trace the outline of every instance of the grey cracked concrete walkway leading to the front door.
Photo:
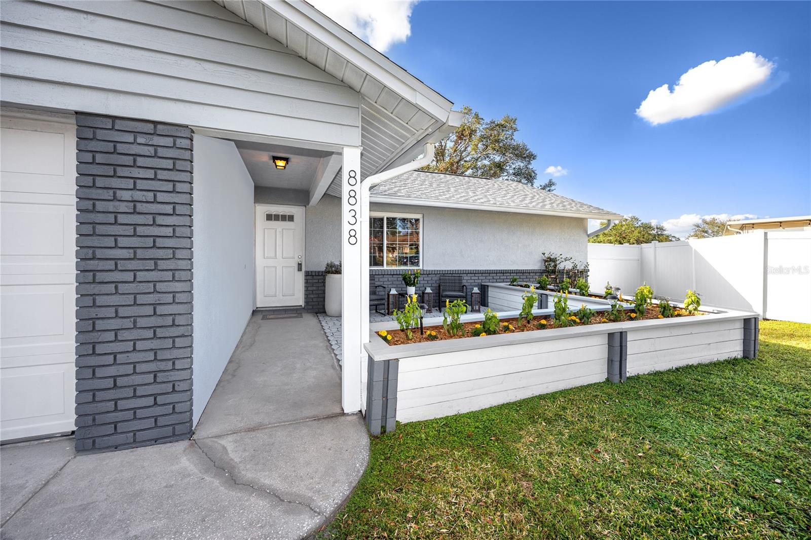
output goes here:
[{"label": "grey cracked concrete walkway leading to the front door", "polygon": [[3,539],[305,538],[366,468],[359,415],[315,315],[250,324],[191,441],[75,455],[0,449]]}]

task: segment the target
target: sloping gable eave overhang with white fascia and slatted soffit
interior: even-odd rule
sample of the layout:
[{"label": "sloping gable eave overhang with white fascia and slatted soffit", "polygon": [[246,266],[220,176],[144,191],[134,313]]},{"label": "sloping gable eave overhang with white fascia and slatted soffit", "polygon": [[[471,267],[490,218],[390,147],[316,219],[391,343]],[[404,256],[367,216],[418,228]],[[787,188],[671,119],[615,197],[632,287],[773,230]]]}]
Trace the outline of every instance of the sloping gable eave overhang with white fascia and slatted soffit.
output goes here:
[{"label": "sloping gable eave overhang with white fascia and slatted soffit", "polygon": [[412,161],[461,123],[453,103],[301,0],[214,0],[361,94],[361,174]]}]

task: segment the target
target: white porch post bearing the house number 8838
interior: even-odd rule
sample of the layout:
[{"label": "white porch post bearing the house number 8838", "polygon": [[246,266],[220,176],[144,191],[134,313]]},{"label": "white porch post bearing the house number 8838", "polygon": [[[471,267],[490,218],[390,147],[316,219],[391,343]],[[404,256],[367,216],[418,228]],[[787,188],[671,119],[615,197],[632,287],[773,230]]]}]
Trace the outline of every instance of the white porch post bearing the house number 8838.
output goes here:
[{"label": "white porch post bearing the house number 8838", "polygon": [[[361,264],[363,232],[361,228],[360,197],[360,148],[344,148],[341,170],[341,261],[343,265],[343,312],[341,340],[343,364],[341,366],[341,406],[345,413],[361,409],[361,369],[363,345],[361,319],[363,313],[363,283],[366,283],[367,298],[369,274],[363,275]],[[368,246],[368,237],[367,246]],[[368,253],[368,247],[367,247]],[[368,257],[368,255],[367,255]],[[368,266],[368,263],[367,263]]]}]

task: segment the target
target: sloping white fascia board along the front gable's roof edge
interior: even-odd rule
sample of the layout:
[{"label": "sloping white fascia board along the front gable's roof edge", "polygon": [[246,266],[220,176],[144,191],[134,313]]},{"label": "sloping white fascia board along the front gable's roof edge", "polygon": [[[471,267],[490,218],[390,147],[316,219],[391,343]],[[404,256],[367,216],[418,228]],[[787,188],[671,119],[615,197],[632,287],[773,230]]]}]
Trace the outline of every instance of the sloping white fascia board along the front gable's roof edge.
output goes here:
[{"label": "sloping white fascia board along the front gable's roof edge", "polygon": [[451,101],[307,2],[260,2],[428,114],[442,121],[448,119]]}]

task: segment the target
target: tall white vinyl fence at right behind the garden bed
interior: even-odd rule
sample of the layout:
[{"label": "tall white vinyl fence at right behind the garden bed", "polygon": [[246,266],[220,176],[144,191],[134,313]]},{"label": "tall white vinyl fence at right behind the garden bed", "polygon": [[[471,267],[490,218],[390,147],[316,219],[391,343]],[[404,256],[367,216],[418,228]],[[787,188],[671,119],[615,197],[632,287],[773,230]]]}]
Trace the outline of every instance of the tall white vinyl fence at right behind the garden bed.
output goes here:
[{"label": "tall white vinyl fence at right behind the garden bed", "polygon": [[811,323],[811,233],[755,231],[639,246],[589,244],[589,281],[630,297],[647,282],[676,301],[693,289],[707,306]]}]

